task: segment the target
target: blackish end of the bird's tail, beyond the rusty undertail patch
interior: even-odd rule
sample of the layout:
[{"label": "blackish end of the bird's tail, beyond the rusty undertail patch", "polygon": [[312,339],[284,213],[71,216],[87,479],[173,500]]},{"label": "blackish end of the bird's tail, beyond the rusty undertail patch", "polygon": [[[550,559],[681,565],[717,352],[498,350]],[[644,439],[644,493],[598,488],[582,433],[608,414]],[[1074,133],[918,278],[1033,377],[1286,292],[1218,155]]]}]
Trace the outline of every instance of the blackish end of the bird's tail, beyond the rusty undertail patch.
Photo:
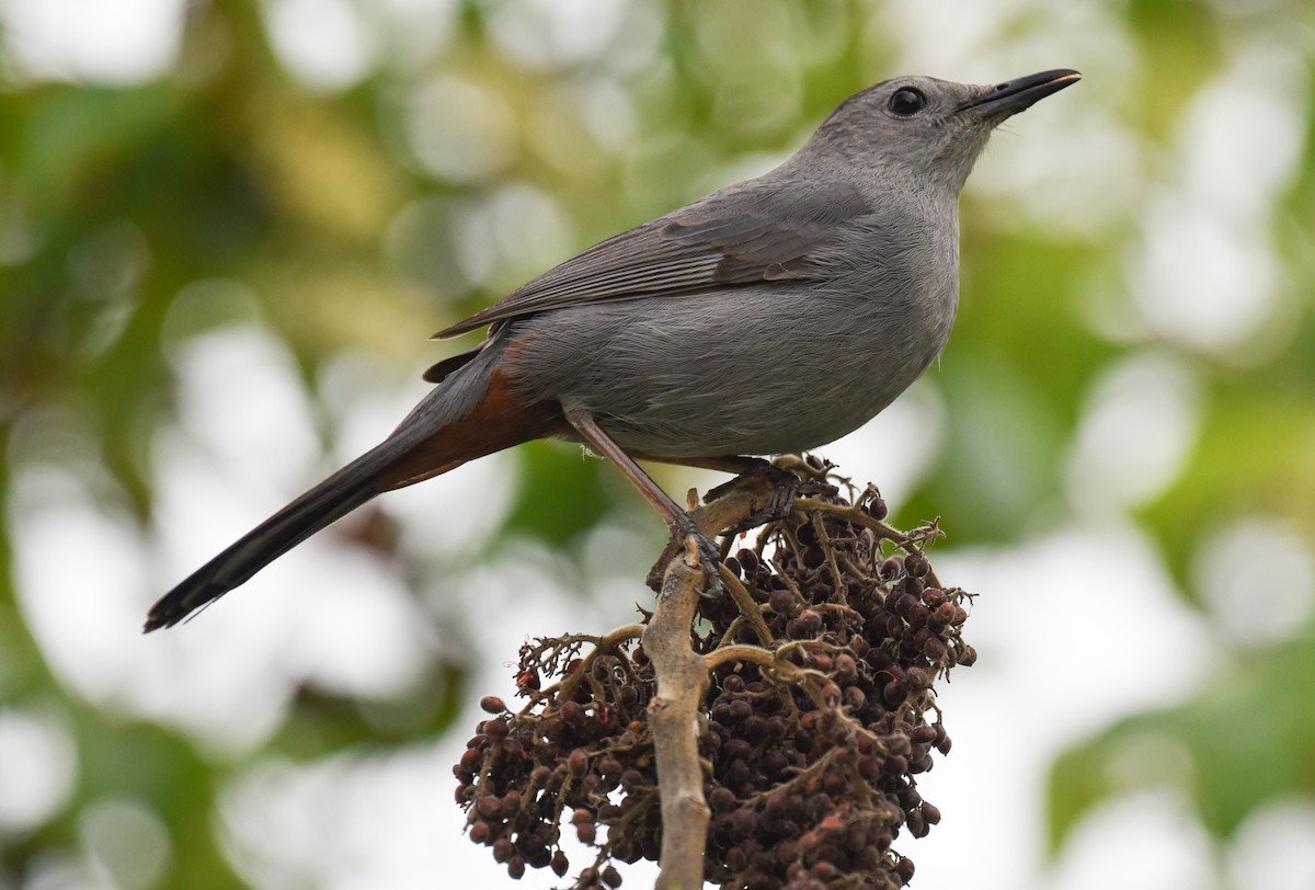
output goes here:
[{"label": "blackish end of the bird's tail, beyond the rusty undertail patch", "polygon": [[387,446],[367,452],[316,485],[160,597],[146,617],[145,631],[172,627],[375,497],[380,467],[394,456],[380,455]]}]

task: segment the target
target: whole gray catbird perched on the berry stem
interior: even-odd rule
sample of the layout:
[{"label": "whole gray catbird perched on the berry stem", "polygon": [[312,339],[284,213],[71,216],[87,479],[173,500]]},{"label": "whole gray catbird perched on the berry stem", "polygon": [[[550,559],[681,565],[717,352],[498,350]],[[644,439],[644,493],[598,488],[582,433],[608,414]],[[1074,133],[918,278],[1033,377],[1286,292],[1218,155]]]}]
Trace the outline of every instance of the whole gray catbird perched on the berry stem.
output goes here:
[{"label": "whole gray catbird perched on the berry stem", "polygon": [[898,78],[846,100],[776,170],[590,247],[477,316],[479,348],[392,435],[156,602],[168,627],[381,492],[530,439],[614,461],[743,471],[857,429],[940,354],[959,301],[959,192],[997,124],[1068,87]]}]

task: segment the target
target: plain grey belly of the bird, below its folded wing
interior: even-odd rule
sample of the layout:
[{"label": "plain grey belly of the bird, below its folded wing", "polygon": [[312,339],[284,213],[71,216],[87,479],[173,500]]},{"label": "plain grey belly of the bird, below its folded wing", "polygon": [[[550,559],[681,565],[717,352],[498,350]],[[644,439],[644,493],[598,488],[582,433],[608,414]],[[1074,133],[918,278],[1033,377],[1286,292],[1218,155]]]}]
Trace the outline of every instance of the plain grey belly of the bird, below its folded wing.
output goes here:
[{"label": "plain grey belly of the bird, below its folded wing", "polygon": [[907,306],[746,288],[544,313],[518,326],[509,360],[535,398],[585,408],[623,448],[773,455],[865,423],[945,335]]}]

